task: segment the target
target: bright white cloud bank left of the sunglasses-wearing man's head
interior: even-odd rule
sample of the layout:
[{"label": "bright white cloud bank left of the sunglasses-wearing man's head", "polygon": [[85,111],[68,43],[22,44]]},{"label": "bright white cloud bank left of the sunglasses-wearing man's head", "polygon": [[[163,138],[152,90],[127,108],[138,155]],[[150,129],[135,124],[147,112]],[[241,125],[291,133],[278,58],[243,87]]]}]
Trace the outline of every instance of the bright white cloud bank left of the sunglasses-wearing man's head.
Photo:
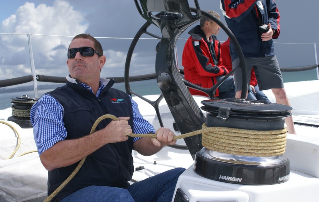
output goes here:
[{"label": "bright white cloud bank left of the sunglasses-wearing man's head", "polygon": [[[60,73],[65,76],[66,51],[71,38],[43,35],[74,36],[84,33],[88,26],[83,12],[74,10],[73,6],[66,1],[56,0],[53,6],[39,4],[35,7],[33,3],[25,3],[19,7],[15,15],[3,20],[0,30],[3,33],[39,34],[30,35],[35,64],[40,67],[37,70],[45,72],[46,75]],[[29,73],[30,58],[27,41],[27,35],[1,35],[0,43],[2,47],[5,47],[0,50],[1,65],[2,68],[9,64],[13,65],[10,68],[17,70],[15,77]],[[18,71],[21,66],[28,70]],[[56,68],[52,68],[53,66]],[[64,68],[58,71],[58,67]],[[0,79],[4,79],[3,76],[0,75]]]}]

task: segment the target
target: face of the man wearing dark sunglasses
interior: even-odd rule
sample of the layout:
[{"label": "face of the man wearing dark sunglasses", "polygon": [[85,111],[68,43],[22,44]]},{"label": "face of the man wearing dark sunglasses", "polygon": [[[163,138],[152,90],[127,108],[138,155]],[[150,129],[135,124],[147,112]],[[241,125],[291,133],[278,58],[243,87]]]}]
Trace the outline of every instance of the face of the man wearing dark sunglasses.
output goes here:
[{"label": "face of the man wearing dark sunglasses", "polygon": [[[70,49],[80,47],[92,47],[95,49],[94,42],[90,39],[77,38],[70,44]],[[100,57],[96,53],[90,57],[82,56],[80,52],[77,52],[74,58],[67,60],[71,77],[83,83],[92,82],[96,79],[99,81],[100,70],[104,66],[104,63],[105,56]]]}]

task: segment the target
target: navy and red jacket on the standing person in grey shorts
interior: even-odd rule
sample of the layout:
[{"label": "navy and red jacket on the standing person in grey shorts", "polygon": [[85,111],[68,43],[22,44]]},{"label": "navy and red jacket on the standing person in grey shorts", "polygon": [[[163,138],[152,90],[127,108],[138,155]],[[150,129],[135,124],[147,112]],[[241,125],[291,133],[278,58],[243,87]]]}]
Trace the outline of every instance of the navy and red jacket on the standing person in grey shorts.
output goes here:
[{"label": "navy and red jacket on the standing person in grey shorts", "polygon": [[[262,41],[259,26],[271,24],[275,30],[273,39],[280,34],[280,15],[274,0],[221,0],[222,11],[229,29],[238,40],[245,57],[275,55],[272,39]],[[232,59],[238,58],[233,43],[230,43]]]}]

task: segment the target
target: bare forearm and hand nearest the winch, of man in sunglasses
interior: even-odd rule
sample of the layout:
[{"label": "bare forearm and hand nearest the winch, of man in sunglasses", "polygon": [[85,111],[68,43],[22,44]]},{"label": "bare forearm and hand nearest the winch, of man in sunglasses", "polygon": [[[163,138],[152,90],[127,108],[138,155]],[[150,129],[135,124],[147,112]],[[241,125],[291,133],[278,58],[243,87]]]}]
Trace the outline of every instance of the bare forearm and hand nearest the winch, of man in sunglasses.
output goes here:
[{"label": "bare forearm and hand nearest the winch, of man in sunglasses", "polygon": [[156,133],[157,138],[142,137],[133,144],[133,148],[144,156],[151,156],[157,153],[165,145],[174,145],[174,133],[168,128],[159,128]]}]

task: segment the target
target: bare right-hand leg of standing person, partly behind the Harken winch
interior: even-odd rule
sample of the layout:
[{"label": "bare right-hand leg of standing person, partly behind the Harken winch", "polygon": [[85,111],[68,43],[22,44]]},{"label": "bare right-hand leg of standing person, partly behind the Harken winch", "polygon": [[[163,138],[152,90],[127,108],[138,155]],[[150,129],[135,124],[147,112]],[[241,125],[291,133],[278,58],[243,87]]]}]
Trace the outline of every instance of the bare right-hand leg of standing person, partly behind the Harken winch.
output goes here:
[{"label": "bare right-hand leg of standing person, partly behind the Harken winch", "polygon": [[[276,103],[290,106],[289,99],[286,95],[286,90],[284,88],[280,89],[271,89],[273,94],[276,97]],[[237,95],[237,94],[236,94]],[[288,133],[290,134],[297,134],[293,125],[293,117],[289,116],[285,118],[285,122],[288,128]]]}]

